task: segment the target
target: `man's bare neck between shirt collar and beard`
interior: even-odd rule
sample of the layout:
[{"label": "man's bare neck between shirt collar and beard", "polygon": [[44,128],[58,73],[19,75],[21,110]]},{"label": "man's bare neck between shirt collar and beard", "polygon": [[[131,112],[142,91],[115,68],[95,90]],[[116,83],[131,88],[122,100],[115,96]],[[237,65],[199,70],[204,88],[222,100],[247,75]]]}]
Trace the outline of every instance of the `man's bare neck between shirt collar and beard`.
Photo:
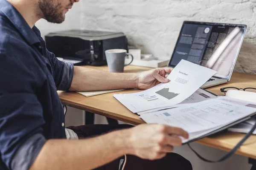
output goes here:
[{"label": "man's bare neck between shirt collar and beard", "polygon": [[37,0],[7,0],[12,4],[23,16],[26,22],[29,24],[30,28],[32,28],[35,23],[41,19],[38,17],[38,6]]}]

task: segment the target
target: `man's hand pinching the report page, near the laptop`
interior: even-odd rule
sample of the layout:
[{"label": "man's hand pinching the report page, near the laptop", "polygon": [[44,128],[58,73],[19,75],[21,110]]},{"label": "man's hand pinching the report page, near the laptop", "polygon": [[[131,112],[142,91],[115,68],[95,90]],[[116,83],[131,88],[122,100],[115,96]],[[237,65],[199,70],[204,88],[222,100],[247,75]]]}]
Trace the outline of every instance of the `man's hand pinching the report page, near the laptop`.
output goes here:
[{"label": "man's hand pinching the report page, near the laptop", "polygon": [[155,68],[150,71],[145,71],[139,74],[138,88],[146,90],[148,88],[154,87],[161,82],[166,83],[170,80],[167,79],[168,75],[166,73],[171,73],[172,68]]}]

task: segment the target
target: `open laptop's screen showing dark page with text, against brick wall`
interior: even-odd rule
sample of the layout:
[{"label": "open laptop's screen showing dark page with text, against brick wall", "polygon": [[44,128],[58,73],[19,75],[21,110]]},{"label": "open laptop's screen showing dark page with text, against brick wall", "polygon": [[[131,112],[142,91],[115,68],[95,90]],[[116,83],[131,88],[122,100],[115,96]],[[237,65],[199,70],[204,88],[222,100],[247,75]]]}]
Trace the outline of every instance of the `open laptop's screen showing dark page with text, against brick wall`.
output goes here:
[{"label": "open laptop's screen showing dark page with text, against brick wall", "polygon": [[230,79],[246,28],[246,25],[184,21],[169,67],[175,67],[181,59],[207,66],[214,56],[218,62],[212,67],[218,71],[215,76]]}]

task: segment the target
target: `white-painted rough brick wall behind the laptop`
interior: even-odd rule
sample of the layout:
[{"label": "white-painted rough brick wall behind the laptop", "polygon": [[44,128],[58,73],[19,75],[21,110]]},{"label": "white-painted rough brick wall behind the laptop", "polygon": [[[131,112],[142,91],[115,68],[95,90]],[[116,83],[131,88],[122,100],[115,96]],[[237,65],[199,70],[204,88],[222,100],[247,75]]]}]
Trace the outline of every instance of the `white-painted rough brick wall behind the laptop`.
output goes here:
[{"label": "white-painted rough brick wall behind the laptop", "polygon": [[256,0],[81,0],[81,28],[122,31],[132,48],[172,55],[184,20],[247,24],[235,71],[256,74]]}]

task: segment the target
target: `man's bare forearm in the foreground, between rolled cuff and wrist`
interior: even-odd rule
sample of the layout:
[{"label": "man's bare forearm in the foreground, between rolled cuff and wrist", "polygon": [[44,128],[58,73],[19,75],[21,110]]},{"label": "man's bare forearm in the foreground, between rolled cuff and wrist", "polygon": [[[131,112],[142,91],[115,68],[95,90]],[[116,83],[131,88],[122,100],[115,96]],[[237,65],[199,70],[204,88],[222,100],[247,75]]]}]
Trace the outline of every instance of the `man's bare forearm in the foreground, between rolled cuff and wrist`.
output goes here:
[{"label": "man's bare forearm in the foreground, between rolled cuff and wrist", "polygon": [[48,140],[30,170],[89,170],[128,152],[127,130],[83,140]]}]

